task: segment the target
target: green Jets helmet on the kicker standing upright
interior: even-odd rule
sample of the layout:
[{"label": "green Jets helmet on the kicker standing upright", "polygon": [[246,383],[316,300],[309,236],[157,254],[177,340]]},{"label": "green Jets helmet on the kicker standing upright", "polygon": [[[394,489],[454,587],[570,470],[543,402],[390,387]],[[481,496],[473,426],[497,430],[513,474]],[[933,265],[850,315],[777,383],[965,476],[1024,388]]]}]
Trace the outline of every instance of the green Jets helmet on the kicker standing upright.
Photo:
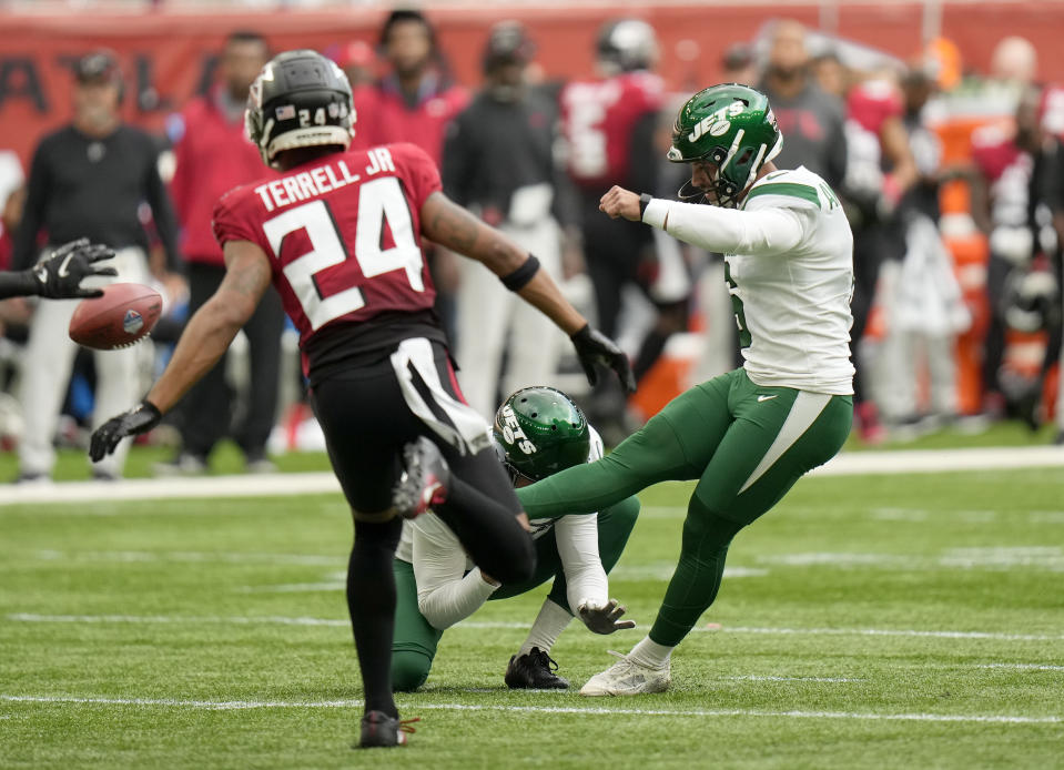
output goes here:
[{"label": "green Jets helmet on the kicker standing upright", "polygon": [[[713,180],[716,203],[734,209],[739,193],[782,148],[783,134],[768,97],[747,85],[727,83],[699,91],[680,108],[668,159],[673,163],[713,163],[718,169]],[[687,201],[701,201],[703,194],[690,182],[679,192]]]}]

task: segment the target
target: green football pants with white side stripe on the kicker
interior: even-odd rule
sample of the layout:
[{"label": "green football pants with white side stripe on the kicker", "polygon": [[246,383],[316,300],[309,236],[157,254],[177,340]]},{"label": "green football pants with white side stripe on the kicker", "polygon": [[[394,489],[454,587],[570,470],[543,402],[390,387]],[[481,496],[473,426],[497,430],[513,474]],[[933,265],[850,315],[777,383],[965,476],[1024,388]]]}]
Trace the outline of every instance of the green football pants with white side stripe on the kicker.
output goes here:
[{"label": "green football pants with white side stripe on the kicker", "polygon": [[596,463],[517,490],[529,518],[597,510],[651,484],[698,479],[680,560],[650,638],[675,646],[713,602],[728,545],[850,433],[853,399],[762,387],[736,369],[670,402]]}]

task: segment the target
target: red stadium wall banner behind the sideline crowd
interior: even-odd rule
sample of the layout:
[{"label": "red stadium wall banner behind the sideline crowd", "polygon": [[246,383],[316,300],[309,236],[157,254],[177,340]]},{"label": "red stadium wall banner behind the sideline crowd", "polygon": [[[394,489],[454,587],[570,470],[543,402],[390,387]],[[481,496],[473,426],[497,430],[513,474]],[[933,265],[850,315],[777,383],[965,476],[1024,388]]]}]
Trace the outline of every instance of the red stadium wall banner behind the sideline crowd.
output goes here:
[{"label": "red stadium wall banner behind the sideline crowd", "polygon": [[[779,17],[810,27],[821,20],[841,37],[908,58],[919,50],[925,28],[920,2],[847,2],[830,18],[822,3],[715,2],[653,4],[639,16],[653,23],[661,40],[660,71],[677,90],[715,82],[720,54],[729,43],[750,40]],[[490,23],[504,16],[526,22],[539,44],[538,62],[547,78],[590,73],[599,24],[616,11],[606,6],[566,10],[521,6],[501,14],[474,10],[432,11],[443,50],[455,77],[469,85],[479,80],[479,57]],[[153,11],[63,14],[0,12],[0,146],[28,163],[41,133],[70,118],[70,63],[97,48],[119,53],[128,78],[126,119],[160,130],[165,116],[209,82],[213,52],[237,28],[262,31],[278,50],[364,40],[375,42],[385,16],[381,10],[188,13]],[[966,57],[965,65],[985,70],[991,51],[1006,34],[1030,39],[1042,51],[1041,74],[1064,81],[1064,58],[1055,51],[1064,29],[1064,3],[986,1],[942,4],[941,32]]]}]

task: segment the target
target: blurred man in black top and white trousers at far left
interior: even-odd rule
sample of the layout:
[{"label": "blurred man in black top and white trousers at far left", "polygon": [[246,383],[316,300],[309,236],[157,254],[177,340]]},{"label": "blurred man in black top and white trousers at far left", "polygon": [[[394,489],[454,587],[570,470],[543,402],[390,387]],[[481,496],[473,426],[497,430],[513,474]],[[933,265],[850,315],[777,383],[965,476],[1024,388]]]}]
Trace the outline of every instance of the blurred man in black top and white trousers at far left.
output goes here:
[{"label": "blurred man in black top and white trousers at far left", "polygon": [[[170,197],[159,176],[152,138],[122,123],[119,105],[123,82],[119,63],[99,51],[74,65],[74,116],[69,125],[44,136],[33,154],[26,211],[16,236],[13,266],[24,270],[37,257],[38,234],[49,244],[82,235],[114,249],[109,265],[118,280],[150,278],[148,235],[139,216],[151,206],[170,270],[178,269],[176,224]],[[50,253],[54,246],[44,249]],[[158,267],[156,273],[162,274]],[[26,349],[20,401],[26,430],[19,445],[20,480],[48,480],[55,462],[52,439],[67,392],[77,344],[67,334],[77,303],[47,301],[38,306]],[[136,347],[95,353],[97,392],[93,425],[136,403]],[[129,442],[93,466],[100,479],[122,474]]]}]

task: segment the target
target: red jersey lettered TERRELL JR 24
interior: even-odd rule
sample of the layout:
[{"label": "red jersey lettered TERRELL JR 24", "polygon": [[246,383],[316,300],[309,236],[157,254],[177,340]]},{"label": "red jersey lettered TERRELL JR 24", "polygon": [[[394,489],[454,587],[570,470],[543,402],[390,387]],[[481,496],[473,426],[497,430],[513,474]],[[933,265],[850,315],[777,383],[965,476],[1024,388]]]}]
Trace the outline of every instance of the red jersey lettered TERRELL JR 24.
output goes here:
[{"label": "red jersey lettered TERRELL JR 24", "polygon": [[419,220],[440,186],[436,165],[413,144],[334,153],[226,193],[214,234],[222,245],[251,241],[270,257],[308,373],[419,335],[396,328],[430,327],[443,341]]}]

